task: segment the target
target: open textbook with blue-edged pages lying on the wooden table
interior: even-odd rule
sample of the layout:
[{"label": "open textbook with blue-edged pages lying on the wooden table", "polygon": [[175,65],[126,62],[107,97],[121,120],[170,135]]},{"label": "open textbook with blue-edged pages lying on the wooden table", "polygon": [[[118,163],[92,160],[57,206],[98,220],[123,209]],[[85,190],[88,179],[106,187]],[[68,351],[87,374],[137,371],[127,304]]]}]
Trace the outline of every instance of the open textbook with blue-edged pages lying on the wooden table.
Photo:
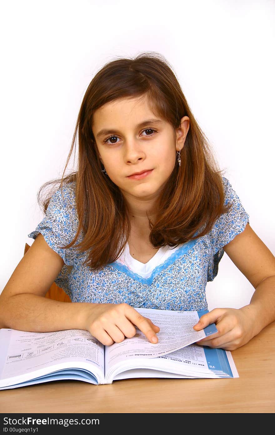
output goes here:
[{"label": "open textbook with blue-edged pages lying on the wooden table", "polygon": [[214,324],[192,328],[207,311],[135,308],[160,328],[152,344],[136,335],[104,346],[88,331],[27,332],[0,329],[0,390],[74,379],[112,384],[127,378],[238,378],[231,352],[199,346]]}]

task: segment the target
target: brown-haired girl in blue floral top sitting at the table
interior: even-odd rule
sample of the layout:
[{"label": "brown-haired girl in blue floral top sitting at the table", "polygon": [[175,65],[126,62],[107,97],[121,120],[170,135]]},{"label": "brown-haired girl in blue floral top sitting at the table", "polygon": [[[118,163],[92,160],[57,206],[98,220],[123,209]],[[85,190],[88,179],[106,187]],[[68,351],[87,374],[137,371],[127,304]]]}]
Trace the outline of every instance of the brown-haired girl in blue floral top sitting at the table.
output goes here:
[{"label": "brown-haired girl in blue floral top sitting at the table", "polygon": [[[78,168],[64,177],[77,134]],[[203,315],[194,329],[215,323],[218,332],[199,344],[234,350],[274,321],[275,258],[162,56],[99,70],[65,170],[0,295],[1,328],[83,329],[111,345],[138,327],[156,343],[159,327],[135,308],[206,310],[205,286],[224,251],[255,292],[249,305]],[[72,303],[44,297],[53,281]]]}]

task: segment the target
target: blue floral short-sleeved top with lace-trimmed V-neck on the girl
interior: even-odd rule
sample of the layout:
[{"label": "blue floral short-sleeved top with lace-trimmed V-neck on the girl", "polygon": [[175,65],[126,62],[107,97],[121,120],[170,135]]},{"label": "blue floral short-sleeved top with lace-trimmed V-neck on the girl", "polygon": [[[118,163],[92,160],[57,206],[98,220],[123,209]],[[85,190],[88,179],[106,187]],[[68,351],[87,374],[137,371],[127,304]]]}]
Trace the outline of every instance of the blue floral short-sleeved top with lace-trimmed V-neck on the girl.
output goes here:
[{"label": "blue floral short-sleeved top with lace-trimmed V-neck on the girl", "polygon": [[[119,259],[101,271],[93,271],[83,264],[87,253],[60,248],[73,240],[78,226],[74,182],[63,187],[63,197],[60,189],[53,194],[46,216],[28,237],[35,239],[41,233],[63,258],[65,265],[55,282],[72,302],[126,302],[134,308],[207,310],[206,284],[218,273],[223,247],[249,223],[228,179],[222,177],[222,181],[225,204],[232,202],[231,210],[222,214],[205,236],[176,248],[160,248],[146,264],[131,257],[127,244]],[[78,240],[82,238],[80,234]]]}]

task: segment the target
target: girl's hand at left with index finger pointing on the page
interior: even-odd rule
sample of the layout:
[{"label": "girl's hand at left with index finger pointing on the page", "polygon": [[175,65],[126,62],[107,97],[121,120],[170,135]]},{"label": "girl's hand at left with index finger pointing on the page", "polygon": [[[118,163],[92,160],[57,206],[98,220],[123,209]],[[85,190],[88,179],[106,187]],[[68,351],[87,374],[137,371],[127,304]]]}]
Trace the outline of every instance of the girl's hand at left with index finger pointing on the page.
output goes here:
[{"label": "girl's hand at left with index finger pointing on the page", "polygon": [[[103,345],[109,346],[114,342],[121,343],[124,338],[136,335],[135,325],[146,335],[151,343],[156,344],[156,333],[159,327],[150,319],[143,317],[135,308],[126,303],[122,304],[87,304],[93,305],[85,315],[84,329],[89,331]],[[88,307],[87,307],[88,308]]]}]

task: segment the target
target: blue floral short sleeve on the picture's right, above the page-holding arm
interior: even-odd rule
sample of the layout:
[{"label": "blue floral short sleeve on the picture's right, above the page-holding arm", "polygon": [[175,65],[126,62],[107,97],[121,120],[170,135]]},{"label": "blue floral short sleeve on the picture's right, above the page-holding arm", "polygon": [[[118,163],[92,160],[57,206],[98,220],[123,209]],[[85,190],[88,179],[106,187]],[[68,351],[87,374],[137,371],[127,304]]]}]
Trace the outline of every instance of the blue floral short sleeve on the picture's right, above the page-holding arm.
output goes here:
[{"label": "blue floral short sleeve on the picture's right, above the page-holding arm", "polygon": [[209,232],[210,258],[207,281],[213,281],[218,273],[219,262],[224,254],[223,247],[237,234],[242,233],[246,224],[249,224],[249,215],[242,206],[239,196],[227,178],[222,177],[222,181],[225,191],[224,204],[230,203],[232,207],[227,213],[219,216]]}]

